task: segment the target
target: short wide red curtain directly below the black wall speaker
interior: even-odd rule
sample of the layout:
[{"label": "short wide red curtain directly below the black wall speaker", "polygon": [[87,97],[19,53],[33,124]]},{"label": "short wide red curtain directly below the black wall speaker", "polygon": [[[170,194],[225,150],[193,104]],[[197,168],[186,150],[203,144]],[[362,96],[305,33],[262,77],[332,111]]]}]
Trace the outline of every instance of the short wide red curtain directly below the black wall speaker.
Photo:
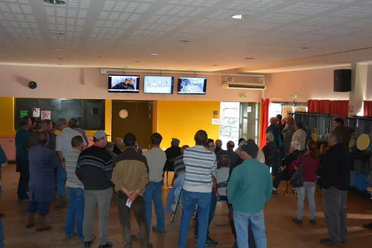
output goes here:
[{"label": "short wide red curtain directly below the black wall speaker", "polygon": [[331,101],[331,100],[309,100],[307,101],[309,112],[323,114],[334,114],[340,117],[348,117],[349,101]]}]

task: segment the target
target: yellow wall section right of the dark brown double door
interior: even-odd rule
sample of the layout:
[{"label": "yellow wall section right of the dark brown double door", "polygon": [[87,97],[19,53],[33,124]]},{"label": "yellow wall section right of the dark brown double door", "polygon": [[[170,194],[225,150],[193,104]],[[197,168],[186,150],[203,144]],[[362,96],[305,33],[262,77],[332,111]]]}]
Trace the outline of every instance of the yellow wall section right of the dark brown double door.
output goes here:
[{"label": "yellow wall section right of the dark brown double door", "polygon": [[161,148],[169,147],[172,138],[178,138],[181,146],[193,146],[199,129],[207,131],[209,138],[219,138],[220,125],[212,125],[212,119],[213,111],[220,114],[220,102],[158,101],[157,108],[157,130],[163,136]]}]

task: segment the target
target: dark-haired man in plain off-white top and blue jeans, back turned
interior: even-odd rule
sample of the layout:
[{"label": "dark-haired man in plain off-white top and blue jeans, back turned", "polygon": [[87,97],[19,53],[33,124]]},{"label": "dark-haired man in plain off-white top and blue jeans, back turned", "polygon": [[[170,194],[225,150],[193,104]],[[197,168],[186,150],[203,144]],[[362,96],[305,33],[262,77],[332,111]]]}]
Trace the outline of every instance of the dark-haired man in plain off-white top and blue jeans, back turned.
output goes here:
[{"label": "dark-haired man in plain off-white top and blue jeans, back turned", "polygon": [[150,138],[152,148],[143,152],[148,164],[148,184],[143,194],[146,206],[147,230],[150,232],[153,201],[157,223],[156,226],[152,227],[152,231],[163,234],[165,233],[165,217],[163,203],[161,201],[161,188],[163,186],[163,168],[167,161],[167,156],[160,148],[160,143],[163,139],[160,133],[155,132]]}]

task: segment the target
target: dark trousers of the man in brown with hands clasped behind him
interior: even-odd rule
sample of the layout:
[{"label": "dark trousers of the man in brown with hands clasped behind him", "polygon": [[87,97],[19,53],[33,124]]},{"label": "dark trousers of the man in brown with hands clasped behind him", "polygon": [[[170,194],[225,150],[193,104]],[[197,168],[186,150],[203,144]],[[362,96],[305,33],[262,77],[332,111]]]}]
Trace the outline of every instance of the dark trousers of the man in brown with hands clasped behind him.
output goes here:
[{"label": "dark trousers of the man in brown with hands clasped behind him", "polygon": [[118,192],[118,210],[120,224],[122,225],[122,235],[124,240],[124,248],[131,248],[131,233],[130,233],[130,209],[133,210],[135,219],[139,227],[139,237],[141,239],[141,248],[149,248],[149,233],[146,224],[146,206],[142,196],[137,196],[132,202],[130,209],[125,205],[128,196],[123,192]]}]

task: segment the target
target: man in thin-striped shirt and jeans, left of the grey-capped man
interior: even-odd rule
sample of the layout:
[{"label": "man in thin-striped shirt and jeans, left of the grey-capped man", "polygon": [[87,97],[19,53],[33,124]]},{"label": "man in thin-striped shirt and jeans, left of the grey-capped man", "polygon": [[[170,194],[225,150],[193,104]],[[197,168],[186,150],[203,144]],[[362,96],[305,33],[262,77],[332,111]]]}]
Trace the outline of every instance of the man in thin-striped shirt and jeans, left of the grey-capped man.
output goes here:
[{"label": "man in thin-striped shirt and jeans, left of the grey-capped man", "polygon": [[67,174],[66,185],[68,187],[69,199],[65,220],[65,236],[67,239],[70,239],[77,235],[79,239],[84,239],[84,185],[75,174],[78,158],[84,146],[83,137],[81,135],[73,137],[71,146],[72,150],[68,151],[65,155]]}]

